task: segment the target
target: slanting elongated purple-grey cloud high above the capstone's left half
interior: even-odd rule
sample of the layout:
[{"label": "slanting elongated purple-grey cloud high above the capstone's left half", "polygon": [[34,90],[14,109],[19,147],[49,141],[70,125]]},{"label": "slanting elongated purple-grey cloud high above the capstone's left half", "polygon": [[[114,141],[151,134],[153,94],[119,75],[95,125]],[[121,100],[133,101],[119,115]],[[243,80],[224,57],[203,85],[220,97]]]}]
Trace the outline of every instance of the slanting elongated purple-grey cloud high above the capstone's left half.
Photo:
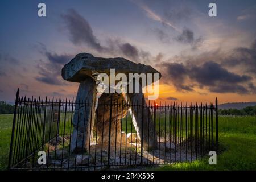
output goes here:
[{"label": "slanting elongated purple-grey cloud high above the capstone's left half", "polygon": [[67,24],[68,31],[71,35],[73,44],[85,44],[101,52],[104,48],[93,35],[92,27],[88,21],[78,14],[75,10],[69,9],[67,14],[62,15]]}]

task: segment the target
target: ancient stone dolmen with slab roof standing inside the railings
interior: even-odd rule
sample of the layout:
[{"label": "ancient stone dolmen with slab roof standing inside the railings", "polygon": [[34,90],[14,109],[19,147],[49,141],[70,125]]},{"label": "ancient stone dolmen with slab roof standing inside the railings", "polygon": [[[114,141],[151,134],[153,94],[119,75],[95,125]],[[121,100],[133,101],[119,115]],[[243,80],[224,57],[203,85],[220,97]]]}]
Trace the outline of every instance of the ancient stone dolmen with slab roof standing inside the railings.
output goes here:
[{"label": "ancient stone dolmen with slab roof standing inside the railings", "polygon": [[[100,83],[97,80],[97,76],[100,73],[106,73],[110,76],[110,69],[115,69],[115,74],[124,73],[127,77],[129,73],[158,73],[159,79],[161,74],[156,71],[156,69],[152,68],[149,65],[137,64],[122,57],[116,58],[102,58],[102,57],[94,57],[89,53],[79,53],[76,55],[68,64],[65,64],[62,69],[62,77],[64,80],[71,82],[79,82],[79,89],[76,97],[76,105],[75,105],[75,113],[73,115],[73,133],[71,137],[71,150],[72,152],[80,152],[87,151],[90,144],[90,134],[93,133],[93,126],[95,125],[95,107],[93,104],[96,102],[96,86]],[[110,79],[109,79],[110,80]],[[154,80],[157,81],[157,80]],[[129,82],[127,82],[129,84]],[[142,88],[139,88],[142,90]],[[117,93],[113,93],[117,94]],[[130,105],[136,105],[137,102],[139,104],[146,104],[143,93],[133,93],[126,94],[127,102]],[[115,98],[115,97],[113,97]],[[117,97],[119,98],[119,97]],[[120,99],[120,98],[119,98]],[[121,98],[122,99],[122,98]],[[109,100],[109,95],[102,94],[102,98],[99,98],[101,102],[104,100]],[[85,104],[87,103],[87,104]],[[89,104],[88,104],[89,103]],[[109,104],[109,103],[108,103]],[[154,123],[152,121],[150,110],[147,107],[144,109],[135,110],[133,107],[130,108],[132,110],[131,113],[135,116],[134,118],[138,118],[137,128],[138,135],[142,138],[143,133],[143,148],[147,150],[148,148],[152,148],[154,144],[156,144],[156,133],[153,133]],[[104,110],[98,110],[104,113]],[[150,116],[148,116],[150,115]],[[120,122],[121,118],[124,117],[122,114],[118,114],[118,122]],[[116,119],[116,118],[113,118]],[[139,120],[140,119],[140,120]],[[112,120],[112,117],[111,117]],[[112,122],[112,121],[111,121]],[[113,121],[114,122],[114,121]],[[142,125],[143,123],[143,125]],[[98,122],[99,125],[103,125],[103,122]],[[119,126],[116,123],[115,126]],[[143,132],[142,132],[143,126]],[[105,127],[105,126],[101,126]],[[100,126],[98,126],[100,129]],[[95,129],[94,129],[95,130]],[[110,135],[112,135],[110,133]],[[118,134],[119,135],[119,134]],[[104,136],[103,136],[104,137]],[[102,142],[102,139],[99,139],[98,142]],[[106,141],[103,139],[103,142]],[[156,145],[155,145],[156,148]]]}]

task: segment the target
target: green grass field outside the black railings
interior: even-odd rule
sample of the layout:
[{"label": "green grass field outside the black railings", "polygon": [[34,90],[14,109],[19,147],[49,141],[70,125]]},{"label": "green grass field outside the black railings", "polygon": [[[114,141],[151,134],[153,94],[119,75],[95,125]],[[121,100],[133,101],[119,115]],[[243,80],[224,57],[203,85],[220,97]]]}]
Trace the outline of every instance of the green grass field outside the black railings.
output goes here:
[{"label": "green grass field outside the black railings", "polygon": [[[0,115],[0,169],[7,168],[13,115]],[[128,123],[130,126],[130,122]],[[129,131],[129,128],[127,129]],[[133,129],[134,131],[134,129]],[[158,170],[256,170],[256,117],[219,117],[221,154],[217,165],[208,158],[192,163],[176,163]]]}]

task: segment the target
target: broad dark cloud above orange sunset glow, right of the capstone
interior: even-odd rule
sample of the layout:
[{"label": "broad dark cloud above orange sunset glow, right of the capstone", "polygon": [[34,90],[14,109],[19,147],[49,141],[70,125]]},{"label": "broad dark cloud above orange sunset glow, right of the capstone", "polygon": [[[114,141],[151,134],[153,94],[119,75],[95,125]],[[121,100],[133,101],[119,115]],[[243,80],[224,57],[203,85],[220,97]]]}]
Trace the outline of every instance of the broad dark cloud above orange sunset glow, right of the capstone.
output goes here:
[{"label": "broad dark cloud above orange sunset glow, right of the capstone", "polygon": [[159,67],[162,68],[160,71],[165,81],[171,82],[177,90],[192,91],[198,87],[218,93],[253,92],[252,77],[229,72],[213,61],[202,65],[164,62],[160,63]]}]

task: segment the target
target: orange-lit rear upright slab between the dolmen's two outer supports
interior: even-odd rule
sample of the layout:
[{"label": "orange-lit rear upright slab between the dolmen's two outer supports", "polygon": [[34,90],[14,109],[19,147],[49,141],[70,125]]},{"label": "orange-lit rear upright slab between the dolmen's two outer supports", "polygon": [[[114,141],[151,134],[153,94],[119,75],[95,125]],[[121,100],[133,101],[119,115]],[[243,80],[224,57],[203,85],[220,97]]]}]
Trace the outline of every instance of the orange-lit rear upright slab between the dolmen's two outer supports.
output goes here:
[{"label": "orange-lit rear upright slab between the dolmen's two outer supports", "polygon": [[[110,97],[112,96],[112,116],[110,117]],[[105,103],[105,105],[104,105]],[[122,94],[102,93],[98,100],[98,107],[96,110],[96,120],[94,122],[94,131],[97,131],[97,144],[108,146],[109,143],[109,121],[111,121],[110,128],[110,145],[120,145],[121,140],[121,119],[126,116],[127,106]],[[123,105],[123,106],[122,106]],[[103,134],[103,135],[102,135]],[[123,137],[122,137],[123,138]],[[123,139],[122,139],[123,140]]]}]

